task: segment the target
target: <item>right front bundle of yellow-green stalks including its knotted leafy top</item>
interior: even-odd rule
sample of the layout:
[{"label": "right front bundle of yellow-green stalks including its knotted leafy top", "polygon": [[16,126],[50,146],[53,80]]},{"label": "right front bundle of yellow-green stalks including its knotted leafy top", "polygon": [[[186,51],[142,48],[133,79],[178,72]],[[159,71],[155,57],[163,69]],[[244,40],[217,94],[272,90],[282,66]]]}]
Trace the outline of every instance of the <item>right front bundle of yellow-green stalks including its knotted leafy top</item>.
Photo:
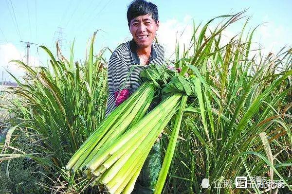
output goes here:
[{"label": "right front bundle of yellow-green stalks including its knotted leafy top", "polygon": [[[110,145],[102,145],[85,170],[96,177],[92,185],[103,185],[110,194],[130,194],[152,146],[179,107],[180,113],[177,114],[175,128],[180,128],[183,108],[187,100],[186,94],[194,95],[195,83],[196,78],[193,76],[189,79],[181,75],[175,76],[162,89],[165,99],[158,106],[116,141],[112,141]],[[165,93],[168,93],[168,96]],[[177,138],[177,135],[178,133],[174,138]],[[164,162],[161,171],[164,174],[160,178],[162,187],[174,153],[175,143],[171,146],[168,159]]]}]

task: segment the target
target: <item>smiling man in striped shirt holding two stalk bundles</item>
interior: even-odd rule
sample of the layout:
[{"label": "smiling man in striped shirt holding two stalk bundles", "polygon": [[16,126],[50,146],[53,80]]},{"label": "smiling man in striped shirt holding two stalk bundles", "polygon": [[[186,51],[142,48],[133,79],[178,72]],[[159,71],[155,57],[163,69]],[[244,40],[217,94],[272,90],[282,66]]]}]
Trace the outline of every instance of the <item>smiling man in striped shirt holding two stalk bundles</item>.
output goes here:
[{"label": "smiling man in striped shirt holding two stalk bundles", "polygon": [[[134,0],[128,6],[127,18],[133,38],[115,49],[110,57],[106,116],[141,86],[142,70],[150,64],[164,64],[164,48],[153,42],[159,29],[156,5],[145,0]],[[131,68],[133,69],[130,72]],[[133,193],[152,194],[160,168],[160,144],[155,143],[136,181]]]}]

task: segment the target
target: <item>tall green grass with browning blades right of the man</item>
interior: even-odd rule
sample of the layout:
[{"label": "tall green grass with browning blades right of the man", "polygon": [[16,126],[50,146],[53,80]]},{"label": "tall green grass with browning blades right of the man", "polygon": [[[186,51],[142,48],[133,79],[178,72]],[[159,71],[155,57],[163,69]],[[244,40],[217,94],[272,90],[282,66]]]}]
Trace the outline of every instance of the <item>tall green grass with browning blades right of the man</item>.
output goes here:
[{"label": "tall green grass with browning blades right of the man", "polygon": [[[248,193],[235,185],[215,188],[236,176],[281,180],[286,188],[278,193],[291,191],[292,52],[251,56],[255,30],[242,40],[246,23],[241,34],[222,45],[222,30],[241,15],[222,16],[227,21],[209,36],[212,20],[200,33],[194,26],[190,47],[182,56],[176,48],[176,68],[200,78],[201,94],[185,110],[184,140],[177,144],[165,193]],[[211,189],[201,188],[203,178]]]}]

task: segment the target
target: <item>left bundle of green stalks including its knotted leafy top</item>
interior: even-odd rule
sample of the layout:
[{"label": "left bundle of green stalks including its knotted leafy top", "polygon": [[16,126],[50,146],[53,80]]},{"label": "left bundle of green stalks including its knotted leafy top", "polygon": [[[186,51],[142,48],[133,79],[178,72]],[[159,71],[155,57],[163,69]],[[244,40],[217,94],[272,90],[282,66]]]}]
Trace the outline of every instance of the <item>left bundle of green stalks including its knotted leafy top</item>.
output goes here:
[{"label": "left bundle of green stalks including its knotted leafy top", "polygon": [[[144,80],[142,86],[110,113],[75,152],[66,165],[67,170],[72,170],[73,173],[84,170],[98,152],[104,152],[104,148],[110,146],[125,133],[127,128],[131,128],[145,116],[154,98],[156,86],[160,88],[162,83],[166,83],[174,75],[174,71],[167,70],[165,67],[156,65],[151,67],[141,73]],[[84,173],[88,175],[89,172],[85,170]]]}]

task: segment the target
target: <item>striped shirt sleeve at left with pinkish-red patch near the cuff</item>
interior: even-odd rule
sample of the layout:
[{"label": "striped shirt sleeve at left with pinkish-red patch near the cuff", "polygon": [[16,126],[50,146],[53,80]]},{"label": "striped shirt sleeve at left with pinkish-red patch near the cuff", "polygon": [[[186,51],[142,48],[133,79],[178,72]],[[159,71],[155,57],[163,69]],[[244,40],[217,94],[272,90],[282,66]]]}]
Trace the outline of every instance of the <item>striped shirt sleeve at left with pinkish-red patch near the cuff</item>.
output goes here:
[{"label": "striped shirt sleeve at left with pinkish-red patch near the cuff", "polygon": [[[106,107],[106,117],[128,98],[130,88],[129,69],[119,57],[111,55],[108,65],[109,97]],[[126,90],[126,91],[125,91]],[[121,92],[120,92],[121,91]],[[117,94],[120,93],[118,96]],[[124,95],[125,94],[125,95]]]}]

